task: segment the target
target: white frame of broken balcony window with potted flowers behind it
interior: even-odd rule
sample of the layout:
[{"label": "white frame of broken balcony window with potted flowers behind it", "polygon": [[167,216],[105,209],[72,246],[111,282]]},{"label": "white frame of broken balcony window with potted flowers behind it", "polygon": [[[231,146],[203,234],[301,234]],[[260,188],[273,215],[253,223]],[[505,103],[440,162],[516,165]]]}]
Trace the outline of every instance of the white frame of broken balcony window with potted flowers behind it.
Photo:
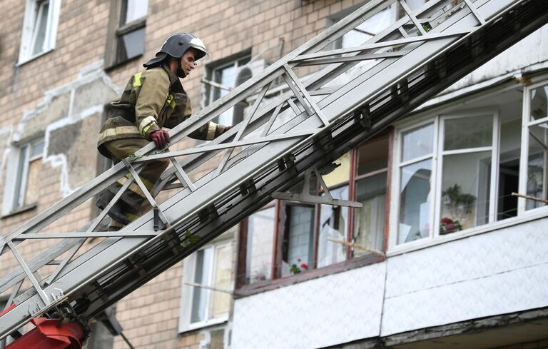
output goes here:
[{"label": "white frame of broken balcony window with potted flowers behind it", "polygon": [[[457,151],[443,151],[443,141],[445,139],[443,135],[445,121],[452,118],[463,118],[463,117],[473,117],[477,115],[487,115],[490,114],[493,116],[493,136],[492,136],[492,146],[482,147],[482,148],[467,148],[459,149]],[[409,161],[401,162],[402,160],[402,134],[406,131],[410,131],[414,128],[420,128],[429,123],[434,124],[434,139],[432,146],[432,153],[425,156],[420,156],[413,158]],[[445,241],[453,238],[452,234],[441,236],[440,235],[440,212],[441,212],[441,186],[442,186],[442,166],[443,166],[443,156],[451,155],[455,153],[473,153],[477,151],[491,151],[492,161],[491,161],[491,173],[490,173],[490,192],[489,192],[489,221],[487,224],[482,226],[477,226],[473,228],[465,229],[464,232],[470,232],[478,230],[492,224],[496,221],[497,218],[497,188],[498,188],[498,163],[499,163],[499,133],[500,133],[500,122],[499,122],[499,111],[494,108],[476,108],[470,111],[462,111],[459,113],[439,113],[435,116],[423,116],[420,118],[420,121],[406,121],[401,123],[400,126],[396,126],[395,133],[395,146],[394,146],[394,161],[392,161],[392,191],[391,196],[393,198],[391,203],[391,216],[390,216],[390,234],[389,234],[389,250],[390,252],[399,252],[404,250],[409,250],[410,248],[416,248],[420,246],[425,246],[426,244],[432,243],[434,241]],[[523,148],[522,141],[522,148]],[[432,174],[431,174],[431,183],[434,188],[430,191],[430,234],[426,238],[418,239],[416,241],[410,241],[409,243],[397,243],[397,237],[400,233],[399,231],[399,217],[400,217],[400,170],[403,166],[410,165],[412,163],[417,163],[427,159],[432,159]],[[522,157],[523,161],[523,157]],[[522,166],[520,165],[520,178],[522,178]],[[521,181],[521,179],[520,179]],[[521,184],[520,184],[521,185]],[[520,188],[521,192],[521,188]],[[459,232],[460,233],[460,232]]]}]

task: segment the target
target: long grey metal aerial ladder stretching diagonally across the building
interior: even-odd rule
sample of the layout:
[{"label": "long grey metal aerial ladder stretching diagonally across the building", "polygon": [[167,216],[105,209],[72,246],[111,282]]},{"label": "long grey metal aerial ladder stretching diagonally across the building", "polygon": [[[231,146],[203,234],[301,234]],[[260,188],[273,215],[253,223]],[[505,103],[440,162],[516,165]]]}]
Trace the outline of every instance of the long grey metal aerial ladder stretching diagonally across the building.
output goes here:
[{"label": "long grey metal aerial ladder stretching diagonally across the building", "polygon": [[[399,19],[359,46],[333,49],[391,6],[399,6]],[[0,309],[0,339],[17,337],[13,349],[80,348],[88,321],[106,308],[273,198],[298,200],[287,191],[303,178],[333,170],[342,154],[547,21],[546,0],[430,0],[413,10],[405,0],[367,2],[173,128],[171,145],[251,101],[227,133],[184,150],[149,144],[0,238],[0,258],[16,261],[0,278],[0,294],[10,295]],[[158,158],[173,166],[150,194],[138,172]],[[127,173],[130,180],[93,221],[48,230]],[[121,231],[101,231],[131,183],[143,188],[151,211]],[[171,194],[157,203],[153,194],[162,191]],[[90,248],[91,239],[99,242]],[[23,243],[46,247],[25,259]],[[36,328],[22,335],[29,322]]]}]

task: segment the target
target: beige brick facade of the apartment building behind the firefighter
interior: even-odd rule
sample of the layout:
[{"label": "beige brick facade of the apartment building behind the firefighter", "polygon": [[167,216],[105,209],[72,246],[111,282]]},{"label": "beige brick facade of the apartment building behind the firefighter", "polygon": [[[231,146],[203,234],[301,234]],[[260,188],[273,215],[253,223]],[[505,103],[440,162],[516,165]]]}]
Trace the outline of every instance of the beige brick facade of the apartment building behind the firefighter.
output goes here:
[{"label": "beige brick facade of the apartment building behind the firefighter", "polygon": [[[128,77],[142,69],[143,61],[155,54],[169,34],[176,31],[197,34],[207,45],[213,63],[244,50],[250,51],[254,59],[272,63],[325,29],[330,14],[362,2],[149,0],[145,54],[104,71],[107,42],[113,40],[108,37],[113,1],[62,0],[54,50],[24,64],[17,62],[26,1],[0,1],[4,11],[0,55],[3,91],[0,134],[4,141],[0,145],[0,182],[6,183],[7,176],[13,175],[9,170],[13,146],[36,137],[47,140],[38,177],[38,202],[26,211],[4,215],[0,220],[1,235],[13,231],[96,175],[95,143],[103,118],[101,106],[118,96]],[[198,66],[183,81],[195,111],[202,100],[203,69],[203,65]],[[5,195],[6,189],[0,186],[0,196]],[[48,231],[74,230],[94,214],[93,203],[87,202],[51,224]],[[20,249],[24,258],[29,259],[41,248],[44,246],[28,244]],[[3,256],[1,275],[14,268],[14,263],[9,256]],[[181,265],[174,265],[118,303],[118,320],[136,348],[228,345],[224,343],[223,329],[218,327],[205,332],[198,329],[178,333]],[[113,348],[126,348],[126,344],[116,338]]]}]

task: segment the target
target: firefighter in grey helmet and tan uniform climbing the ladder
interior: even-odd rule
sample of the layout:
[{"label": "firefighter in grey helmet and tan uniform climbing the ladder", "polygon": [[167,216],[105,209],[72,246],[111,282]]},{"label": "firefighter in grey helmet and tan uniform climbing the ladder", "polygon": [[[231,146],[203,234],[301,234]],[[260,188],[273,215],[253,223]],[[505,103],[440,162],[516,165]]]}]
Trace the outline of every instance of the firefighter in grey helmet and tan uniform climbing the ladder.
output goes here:
[{"label": "firefighter in grey helmet and tan uniform climbing the ladder", "polygon": [[[98,151],[118,163],[150,141],[158,149],[166,146],[170,141],[166,128],[177,126],[192,113],[191,101],[179,78],[190,74],[196,67],[196,61],[208,59],[208,56],[197,36],[186,33],[169,36],[156,56],[143,64],[146,69],[131,76],[119,101],[111,103],[111,114],[98,136]],[[189,136],[211,140],[230,127],[210,121]],[[146,162],[139,177],[148,191],[151,191],[168,164],[167,159]],[[103,210],[128,178],[131,178],[130,174],[103,191],[96,205]],[[131,183],[108,212],[111,216],[108,230],[117,231],[140,216],[144,201],[146,196],[141,188],[137,183]]]}]

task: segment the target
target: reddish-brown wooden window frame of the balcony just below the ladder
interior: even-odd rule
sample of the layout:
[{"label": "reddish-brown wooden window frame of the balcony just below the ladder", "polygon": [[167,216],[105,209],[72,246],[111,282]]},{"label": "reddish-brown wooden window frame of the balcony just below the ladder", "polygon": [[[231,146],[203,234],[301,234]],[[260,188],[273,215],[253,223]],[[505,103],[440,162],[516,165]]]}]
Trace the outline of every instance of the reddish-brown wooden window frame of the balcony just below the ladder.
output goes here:
[{"label": "reddish-brown wooden window frame of the balcony just below the ladder", "polygon": [[[387,137],[388,138],[388,161],[385,168],[381,168],[370,173],[362,174],[357,176],[357,151],[360,146],[357,146],[352,149],[350,153],[351,163],[350,163],[350,173],[349,181],[338,183],[337,186],[333,186],[330,189],[340,188],[342,186],[349,186],[349,200],[355,200],[356,193],[356,183],[362,178],[367,178],[370,176],[375,176],[379,173],[387,173],[387,186],[386,186],[386,201],[385,201],[385,229],[383,232],[384,241],[383,241],[383,252],[387,251],[388,246],[388,231],[389,231],[389,222],[390,222],[390,185],[392,177],[392,154],[393,154],[393,143],[395,139],[395,131],[393,128],[390,128],[384,133],[371,138],[368,141],[375,141],[379,138]],[[367,143],[367,142],[365,142]],[[303,203],[295,203],[293,201],[279,201],[276,200],[275,203],[275,226],[274,226],[274,238],[273,238],[273,265],[271,269],[271,279],[258,281],[252,284],[245,283],[245,268],[246,268],[246,249],[247,249],[247,240],[248,240],[248,219],[245,218],[242,223],[240,223],[240,232],[238,238],[238,265],[236,272],[235,280],[235,298],[245,297],[248,295],[253,295],[256,293],[264,292],[267,290],[273,290],[275,288],[280,288],[285,285],[292,285],[294,283],[300,283],[305,280],[310,280],[313,278],[318,278],[320,276],[333,275],[335,273],[340,273],[345,270],[350,270],[353,268],[360,268],[365,265],[370,265],[373,263],[379,263],[385,261],[385,255],[378,255],[375,253],[368,253],[364,256],[352,256],[352,248],[346,248],[346,259],[339,263],[334,263],[327,265],[322,268],[317,268],[318,265],[318,238],[319,238],[319,223],[320,223],[320,204],[315,204],[315,213],[314,213],[314,231],[313,231],[313,265],[309,265],[309,270],[305,273],[298,273],[295,275],[288,275],[281,277],[280,264],[282,259],[281,244],[283,243],[283,233],[286,222],[286,206],[288,205],[303,205]],[[265,206],[265,208],[271,208],[272,205]],[[263,209],[265,209],[263,208]],[[347,241],[352,241],[352,234],[354,228],[354,209],[349,208],[348,218],[347,218]]]}]

